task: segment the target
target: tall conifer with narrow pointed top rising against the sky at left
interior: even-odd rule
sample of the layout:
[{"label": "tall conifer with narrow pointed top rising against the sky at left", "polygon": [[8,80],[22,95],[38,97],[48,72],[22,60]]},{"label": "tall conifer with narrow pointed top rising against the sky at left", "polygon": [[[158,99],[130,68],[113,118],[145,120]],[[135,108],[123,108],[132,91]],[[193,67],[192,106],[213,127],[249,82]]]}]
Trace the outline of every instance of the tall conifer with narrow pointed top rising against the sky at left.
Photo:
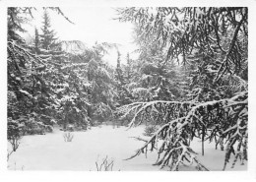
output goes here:
[{"label": "tall conifer with narrow pointed top rising against the sky at left", "polygon": [[[88,120],[88,95],[83,92],[85,79],[81,77],[80,69],[85,64],[77,65],[73,58],[75,55],[62,50],[62,42],[55,37],[56,33],[51,29],[50,17],[47,10],[43,13],[43,22],[40,36],[40,57],[48,62],[47,72],[43,76],[47,80],[47,88],[50,94],[44,96],[52,100],[54,109],[44,110],[47,115],[54,117],[58,124],[66,129],[68,124],[74,124],[79,128],[87,129]],[[66,41],[66,43],[69,43]],[[78,67],[81,67],[78,69]]]}]

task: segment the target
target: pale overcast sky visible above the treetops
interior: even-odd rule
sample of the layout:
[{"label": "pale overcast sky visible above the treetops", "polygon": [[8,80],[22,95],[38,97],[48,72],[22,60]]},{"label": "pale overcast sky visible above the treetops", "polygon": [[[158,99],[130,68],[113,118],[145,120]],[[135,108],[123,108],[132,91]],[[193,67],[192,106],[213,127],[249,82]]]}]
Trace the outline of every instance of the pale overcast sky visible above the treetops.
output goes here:
[{"label": "pale overcast sky visible above the treetops", "polygon": [[[61,7],[60,7],[61,8]],[[132,31],[133,25],[130,23],[120,23],[116,18],[114,8],[110,7],[63,7],[63,13],[75,25],[70,24],[62,16],[55,12],[49,12],[52,29],[56,31],[56,35],[61,40],[81,40],[87,45],[92,46],[95,42],[118,43],[119,51],[121,52],[122,62],[125,63],[125,57],[129,52],[132,58],[136,54],[132,52],[136,49],[133,42]],[[42,10],[37,9],[34,13],[34,20],[31,27],[28,28],[30,34],[34,34],[34,27],[41,28]],[[108,56],[105,56],[111,65],[116,65],[117,53],[116,50],[110,51]]]}]

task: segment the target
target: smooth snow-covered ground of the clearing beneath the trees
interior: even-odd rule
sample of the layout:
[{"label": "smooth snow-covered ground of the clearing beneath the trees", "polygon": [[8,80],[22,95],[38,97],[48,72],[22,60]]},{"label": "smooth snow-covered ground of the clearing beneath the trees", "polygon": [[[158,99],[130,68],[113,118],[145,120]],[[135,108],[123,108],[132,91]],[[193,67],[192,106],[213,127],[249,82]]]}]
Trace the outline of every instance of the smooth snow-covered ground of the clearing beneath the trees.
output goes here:
[{"label": "smooth snow-covered ground of the clearing beneath the trees", "polygon": [[[17,152],[13,152],[8,162],[10,170],[96,170],[96,161],[101,163],[107,155],[113,159],[113,170],[160,170],[160,166],[152,165],[156,162],[157,153],[149,152],[130,160],[123,160],[131,156],[144,142],[131,137],[142,136],[144,126],[132,128],[112,126],[94,127],[87,132],[73,132],[71,143],[64,142],[63,132],[58,129],[46,135],[25,136]],[[10,147],[10,146],[9,146]],[[214,144],[205,143],[205,155],[201,155],[201,143],[195,141],[192,149],[198,152],[198,158],[210,170],[222,170],[224,166],[224,152],[215,150]],[[232,155],[233,157],[233,155]],[[246,170],[245,165],[237,161],[235,167],[226,170]],[[192,166],[180,166],[179,170],[195,170]]]}]

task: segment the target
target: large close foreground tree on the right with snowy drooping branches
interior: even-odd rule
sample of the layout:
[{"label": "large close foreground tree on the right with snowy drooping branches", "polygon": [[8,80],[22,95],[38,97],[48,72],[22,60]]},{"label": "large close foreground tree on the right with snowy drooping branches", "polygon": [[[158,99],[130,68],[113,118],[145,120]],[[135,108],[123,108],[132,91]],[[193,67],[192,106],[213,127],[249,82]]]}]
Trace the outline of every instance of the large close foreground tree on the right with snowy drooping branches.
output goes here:
[{"label": "large close foreground tree on the right with snowy drooping branches", "polygon": [[143,100],[119,108],[124,116],[134,114],[131,126],[147,120],[161,126],[132,157],[154,151],[161,140],[156,164],[178,170],[180,164],[195,162],[199,170],[207,170],[190,148],[197,137],[202,144],[226,142],[224,169],[236,145],[234,163],[238,157],[242,163],[247,160],[248,9],[132,7],[117,11],[119,20],[133,22],[143,39],[153,37],[160,44],[164,52],[160,68],[182,58],[180,63],[191,78],[189,101]]}]

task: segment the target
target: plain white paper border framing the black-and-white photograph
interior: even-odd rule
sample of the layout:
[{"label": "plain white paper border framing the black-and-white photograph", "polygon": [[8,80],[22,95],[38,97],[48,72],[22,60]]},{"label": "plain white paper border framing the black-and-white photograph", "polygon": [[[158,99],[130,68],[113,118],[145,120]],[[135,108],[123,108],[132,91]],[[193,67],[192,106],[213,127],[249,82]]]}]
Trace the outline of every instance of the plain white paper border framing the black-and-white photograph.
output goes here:
[{"label": "plain white paper border framing the black-and-white photograph", "polygon": [[[73,172],[73,171],[8,171],[6,162],[7,118],[7,7],[64,7],[64,6],[243,6],[249,7],[249,162],[248,171],[237,172]],[[65,12],[64,12],[65,13]],[[99,12],[100,13],[100,12]],[[0,58],[1,94],[0,114],[0,180],[1,181],[255,181],[256,179],[256,1],[253,0],[0,0]]]}]

